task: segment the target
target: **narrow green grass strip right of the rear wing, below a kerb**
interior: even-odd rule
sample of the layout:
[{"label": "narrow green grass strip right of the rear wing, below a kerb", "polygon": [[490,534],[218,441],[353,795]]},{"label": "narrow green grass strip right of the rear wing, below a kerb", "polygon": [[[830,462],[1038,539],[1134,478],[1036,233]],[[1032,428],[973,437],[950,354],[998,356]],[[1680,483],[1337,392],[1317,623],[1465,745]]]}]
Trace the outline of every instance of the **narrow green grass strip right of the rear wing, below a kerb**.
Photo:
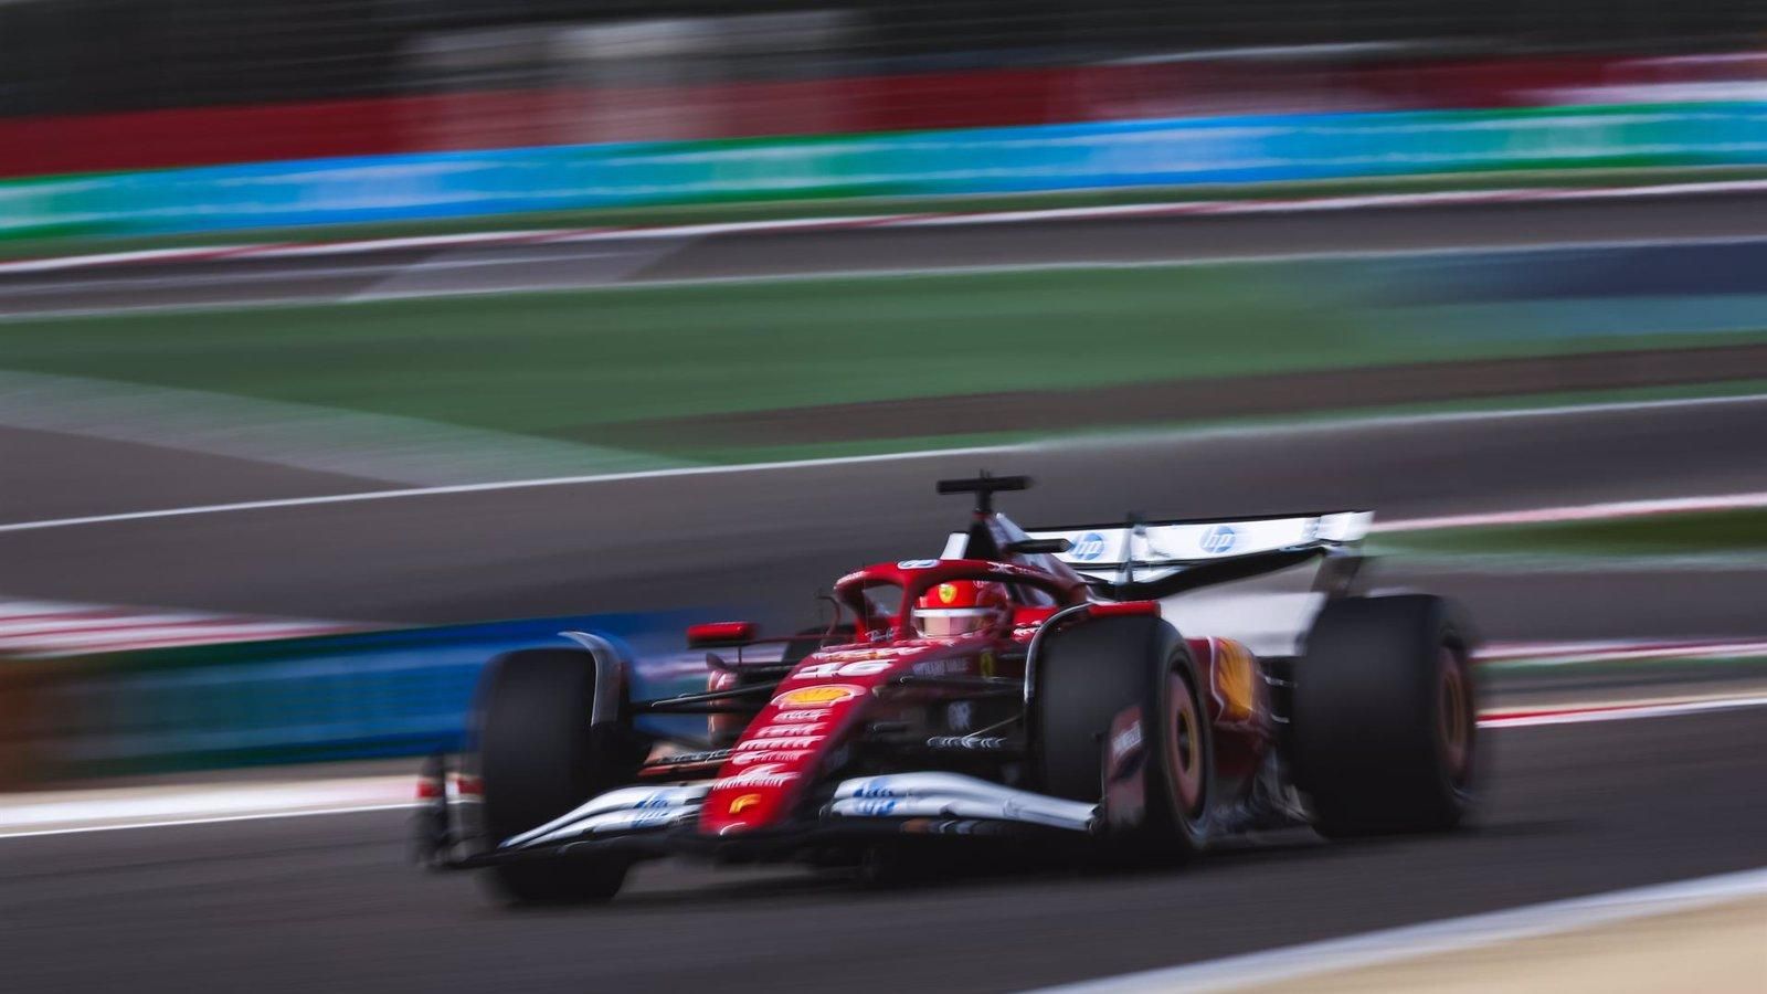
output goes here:
[{"label": "narrow green grass strip right of the rear wing, below a kerb", "polygon": [[1767,552],[1767,509],[1399,532],[1378,536],[1373,548],[1398,555],[1656,557],[1762,554]]}]

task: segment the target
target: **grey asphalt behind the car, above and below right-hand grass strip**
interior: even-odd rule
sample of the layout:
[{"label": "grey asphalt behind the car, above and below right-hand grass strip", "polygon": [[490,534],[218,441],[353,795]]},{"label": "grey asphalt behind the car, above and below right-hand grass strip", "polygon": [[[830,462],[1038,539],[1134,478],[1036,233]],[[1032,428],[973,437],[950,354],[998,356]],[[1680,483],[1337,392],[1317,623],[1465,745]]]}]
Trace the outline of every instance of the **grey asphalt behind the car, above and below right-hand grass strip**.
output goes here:
[{"label": "grey asphalt behind the car, above and below right-hand grass strip", "polygon": [[[104,453],[134,462],[113,463],[115,485],[99,492],[42,493],[32,516],[150,509],[131,481],[200,469],[171,451]],[[848,570],[937,552],[967,508],[935,495],[933,479],[982,467],[1037,478],[1002,499],[1025,525],[1334,508],[1410,518],[1746,493],[1767,490],[1767,400],[1081,440],[0,531],[0,591],[389,623],[703,605],[802,624],[813,594]],[[256,486],[242,492],[246,479]],[[226,499],[378,488],[343,483],[267,470],[226,478]],[[1375,582],[1456,594],[1493,638],[1767,633],[1760,570],[1389,570]]]}]

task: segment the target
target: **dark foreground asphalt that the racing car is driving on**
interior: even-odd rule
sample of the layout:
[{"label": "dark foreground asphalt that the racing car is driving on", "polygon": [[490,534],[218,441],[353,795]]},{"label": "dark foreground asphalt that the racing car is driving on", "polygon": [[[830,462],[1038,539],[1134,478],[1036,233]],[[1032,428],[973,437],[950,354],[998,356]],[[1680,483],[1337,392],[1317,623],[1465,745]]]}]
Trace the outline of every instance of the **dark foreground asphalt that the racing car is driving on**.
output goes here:
[{"label": "dark foreground asphalt that the racing car is driving on", "polygon": [[795,868],[640,870],[511,913],[403,863],[399,812],[0,840],[7,987],[1014,990],[1767,863],[1758,709],[1511,729],[1470,831],[1308,831],[1147,875],[862,891]]}]

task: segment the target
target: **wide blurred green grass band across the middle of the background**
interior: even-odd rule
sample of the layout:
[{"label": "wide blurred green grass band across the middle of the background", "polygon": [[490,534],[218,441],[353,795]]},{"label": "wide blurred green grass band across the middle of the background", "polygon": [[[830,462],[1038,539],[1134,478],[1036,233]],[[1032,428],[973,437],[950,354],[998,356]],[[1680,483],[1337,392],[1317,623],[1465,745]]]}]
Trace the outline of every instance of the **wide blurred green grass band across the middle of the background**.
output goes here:
[{"label": "wide blurred green grass band across the middle of the background", "polygon": [[0,366],[595,442],[597,424],[652,417],[1760,338],[1440,336],[1362,320],[1334,272],[1081,267],[44,318],[0,324]]}]

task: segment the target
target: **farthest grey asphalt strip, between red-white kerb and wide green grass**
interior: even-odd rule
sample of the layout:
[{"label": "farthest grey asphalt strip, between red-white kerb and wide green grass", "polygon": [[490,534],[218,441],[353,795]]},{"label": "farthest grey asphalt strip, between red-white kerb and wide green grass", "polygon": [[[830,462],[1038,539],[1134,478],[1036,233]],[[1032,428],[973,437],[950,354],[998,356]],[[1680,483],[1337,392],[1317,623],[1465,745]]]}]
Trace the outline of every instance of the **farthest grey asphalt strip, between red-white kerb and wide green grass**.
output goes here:
[{"label": "farthest grey asphalt strip, between red-white kerb and wide green grass", "polygon": [[1145,264],[1585,242],[1758,241],[1767,195],[1437,205],[1179,218],[1073,218],[703,237],[122,262],[0,274],[0,317],[327,302],[426,294],[825,276],[899,269]]}]

